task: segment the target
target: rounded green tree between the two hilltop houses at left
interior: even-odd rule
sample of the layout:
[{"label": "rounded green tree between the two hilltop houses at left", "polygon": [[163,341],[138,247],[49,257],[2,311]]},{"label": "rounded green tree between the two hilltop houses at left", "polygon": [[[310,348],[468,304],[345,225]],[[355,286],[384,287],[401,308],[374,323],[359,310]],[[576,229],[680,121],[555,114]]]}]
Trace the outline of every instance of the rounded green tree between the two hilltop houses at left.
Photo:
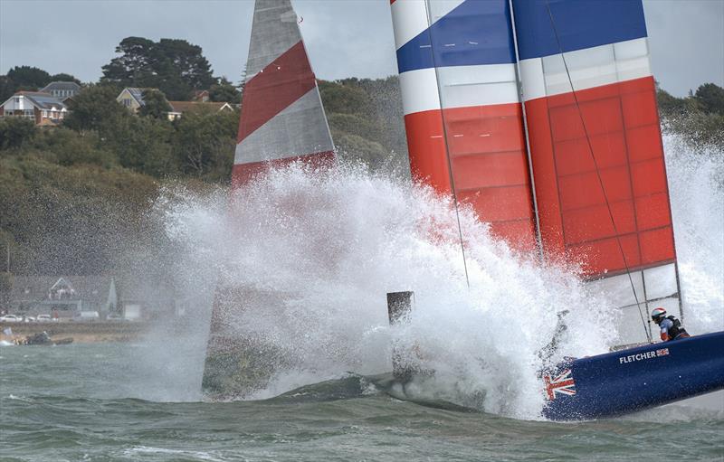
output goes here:
[{"label": "rounded green tree between the two hilltop houses at left", "polygon": [[90,85],[69,102],[70,114],[63,120],[73,130],[100,130],[112,126],[119,118],[131,117],[116,100],[118,90],[112,86]]}]

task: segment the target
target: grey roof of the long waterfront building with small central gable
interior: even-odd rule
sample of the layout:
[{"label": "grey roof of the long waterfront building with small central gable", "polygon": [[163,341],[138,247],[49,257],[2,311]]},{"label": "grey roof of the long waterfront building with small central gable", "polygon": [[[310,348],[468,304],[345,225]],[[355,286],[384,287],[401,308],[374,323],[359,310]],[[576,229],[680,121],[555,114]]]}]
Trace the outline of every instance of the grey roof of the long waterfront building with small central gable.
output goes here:
[{"label": "grey roof of the long waterfront building with small central gable", "polygon": [[42,301],[48,299],[53,286],[63,279],[75,294],[72,299],[82,299],[94,303],[105,303],[110,292],[110,276],[15,276],[10,300]]}]

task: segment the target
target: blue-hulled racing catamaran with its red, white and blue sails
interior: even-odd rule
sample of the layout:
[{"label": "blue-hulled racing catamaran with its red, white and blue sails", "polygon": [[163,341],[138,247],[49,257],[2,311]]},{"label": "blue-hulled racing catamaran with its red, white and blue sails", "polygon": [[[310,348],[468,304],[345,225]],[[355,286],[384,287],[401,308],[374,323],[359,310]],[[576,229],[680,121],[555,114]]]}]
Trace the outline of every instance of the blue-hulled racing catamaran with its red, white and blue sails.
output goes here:
[{"label": "blue-hulled racing catamaran with its red, white and blue sails", "polygon": [[[548,367],[544,415],[592,419],[724,388],[724,332],[683,318],[641,0],[391,0],[410,165],[511,247],[579,265],[643,346]],[[392,314],[392,311],[391,311]],[[642,335],[643,333],[643,335]]]}]

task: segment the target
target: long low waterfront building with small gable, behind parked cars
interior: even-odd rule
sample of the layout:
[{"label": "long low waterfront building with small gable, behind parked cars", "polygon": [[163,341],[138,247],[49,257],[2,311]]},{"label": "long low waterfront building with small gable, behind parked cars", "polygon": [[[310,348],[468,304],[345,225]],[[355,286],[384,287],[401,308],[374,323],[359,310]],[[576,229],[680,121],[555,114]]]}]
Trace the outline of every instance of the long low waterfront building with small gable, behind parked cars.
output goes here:
[{"label": "long low waterfront building with small gable, behind parked cars", "polygon": [[97,311],[101,318],[119,309],[116,282],[106,276],[15,276],[11,312],[23,316],[72,317]]}]

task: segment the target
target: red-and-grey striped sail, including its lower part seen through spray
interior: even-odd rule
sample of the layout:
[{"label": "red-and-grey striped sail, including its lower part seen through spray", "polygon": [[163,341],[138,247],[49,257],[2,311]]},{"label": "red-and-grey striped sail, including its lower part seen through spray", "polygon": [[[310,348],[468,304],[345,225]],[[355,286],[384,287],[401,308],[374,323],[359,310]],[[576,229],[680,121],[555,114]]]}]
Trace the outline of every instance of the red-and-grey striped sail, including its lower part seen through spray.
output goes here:
[{"label": "red-and-grey striped sail, including its lower part seen through spray", "polygon": [[[256,0],[246,75],[233,190],[274,166],[295,161],[333,164],[332,137],[290,0]],[[269,312],[283,305],[283,297],[224,278],[221,272],[206,352],[205,391],[216,397],[244,396],[264,386],[270,364],[281,359],[263,339],[240,335],[238,325],[246,310],[263,307]]]}]

